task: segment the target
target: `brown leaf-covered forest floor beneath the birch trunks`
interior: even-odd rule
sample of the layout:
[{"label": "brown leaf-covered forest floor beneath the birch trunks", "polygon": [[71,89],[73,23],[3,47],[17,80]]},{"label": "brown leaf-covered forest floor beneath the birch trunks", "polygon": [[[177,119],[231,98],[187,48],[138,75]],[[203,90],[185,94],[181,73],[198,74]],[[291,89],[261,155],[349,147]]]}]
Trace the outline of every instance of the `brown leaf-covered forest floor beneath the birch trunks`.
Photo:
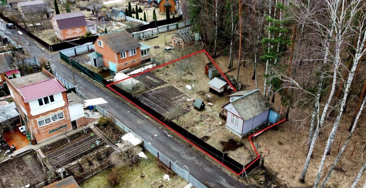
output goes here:
[{"label": "brown leaf-covered forest floor beneath the birch trunks", "polygon": [[[223,72],[228,71],[228,56],[219,56],[214,59]],[[234,67],[236,66],[237,59],[234,58]],[[247,58],[246,67],[240,67],[239,80],[245,89],[255,89],[255,81],[252,80],[254,63],[253,60]],[[257,80],[258,89],[263,92],[264,88],[264,64],[258,64]],[[229,72],[228,74],[236,75],[237,70]],[[354,97],[354,96],[353,96]],[[355,97],[358,101],[358,97]],[[279,112],[280,111],[280,95],[276,94],[275,103],[271,103],[272,107]],[[321,182],[324,180],[326,174],[328,174],[330,166],[334,162],[337,156],[337,150],[339,144],[342,147],[344,141],[347,138],[348,127],[356,108],[355,102],[351,102],[348,105],[346,113],[343,115],[340,126],[338,128],[335,141],[329,156],[327,156],[323,173],[321,176]],[[308,136],[310,129],[310,114],[309,108],[304,107],[300,109],[295,107],[290,110],[289,121],[279,125],[279,130],[270,129],[267,132],[254,138],[254,143],[259,144],[257,148],[259,154],[265,158],[264,166],[270,171],[276,173],[276,181],[280,184],[286,184],[288,187],[307,187],[311,186],[317,176],[318,167],[321,161],[321,157],[324,152],[326,141],[335,117],[330,117],[327,122],[324,123],[324,128],[321,129],[320,135],[315,144],[313,158],[310,161],[309,169],[306,175],[306,183],[302,184],[298,180],[302,172],[308,148]],[[329,187],[350,187],[354,181],[359,169],[361,168],[362,156],[366,154],[364,151],[366,140],[366,124],[365,113],[360,117],[358,122],[358,128],[352,140],[348,143],[340,161],[336,165],[336,170],[333,171],[332,176],[328,180]],[[342,140],[341,140],[342,138]],[[244,137],[244,140],[248,138]],[[356,143],[357,141],[357,143]],[[352,151],[354,150],[353,155]],[[359,185],[363,185],[366,181],[366,175],[363,175]]]}]

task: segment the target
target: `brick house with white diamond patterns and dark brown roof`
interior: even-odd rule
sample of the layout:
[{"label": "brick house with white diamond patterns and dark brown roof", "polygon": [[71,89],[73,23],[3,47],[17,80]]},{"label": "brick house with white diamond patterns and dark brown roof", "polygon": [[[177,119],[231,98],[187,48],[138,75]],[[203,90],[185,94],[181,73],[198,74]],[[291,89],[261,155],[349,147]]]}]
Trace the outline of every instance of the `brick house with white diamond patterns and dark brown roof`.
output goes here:
[{"label": "brick house with white diamond patterns and dark brown roof", "polygon": [[87,31],[97,34],[96,23],[85,19],[82,12],[69,12],[52,16],[56,37],[61,40],[79,38]]}]

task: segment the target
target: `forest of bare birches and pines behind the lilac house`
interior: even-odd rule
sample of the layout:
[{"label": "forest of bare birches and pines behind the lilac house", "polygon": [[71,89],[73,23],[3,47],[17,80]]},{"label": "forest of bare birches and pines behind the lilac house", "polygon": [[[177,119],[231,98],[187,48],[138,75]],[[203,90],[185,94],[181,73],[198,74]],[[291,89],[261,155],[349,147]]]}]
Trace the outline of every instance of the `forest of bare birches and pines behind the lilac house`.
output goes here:
[{"label": "forest of bare birches and pines behind the lilac house", "polygon": [[[364,0],[188,0],[195,32],[201,34],[206,49],[217,57],[229,56],[227,67],[254,66],[264,75],[261,89],[268,101],[281,101],[281,115],[292,121],[294,108],[310,112],[304,121],[309,131],[307,156],[300,182],[324,187],[352,135],[365,125],[366,4]],[[234,61],[234,59],[236,59]],[[248,60],[250,59],[250,60]],[[257,67],[264,67],[264,72]],[[254,89],[254,88],[251,88]],[[355,104],[348,109],[348,104]],[[345,115],[346,114],[346,115]],[[351,117],[345,119],[347,117]],[[339,133],[341,121],[347,133]],[[328,139],[321,142],[324,153],[316,179],[306,179],[313,149],[321,130]],[[363,128],[364,129],[364,128]],[[347,135],[331,167],[324,169],[336,134]],[[336,149],[335,149],[336,151]],[[335,152],[333,151],[333,152]],[[333,159],[332,159],[333,160]],[[361,181],[366,162],[352,187]],[[321,176],[322,175],[322,176]],[[325,178],[324,178],[325,177]],[[362,185],[358,185],[362,186]],[[363,187],[366,187],[363,185]]]}]

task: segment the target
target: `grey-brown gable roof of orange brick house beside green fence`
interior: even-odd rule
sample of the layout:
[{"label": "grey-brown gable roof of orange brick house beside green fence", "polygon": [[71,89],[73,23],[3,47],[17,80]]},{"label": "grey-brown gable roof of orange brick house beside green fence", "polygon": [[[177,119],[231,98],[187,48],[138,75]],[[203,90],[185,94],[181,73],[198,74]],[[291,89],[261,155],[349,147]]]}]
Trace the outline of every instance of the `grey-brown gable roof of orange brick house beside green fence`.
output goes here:
[{"label": "grey-brown gable roof of orange brick house beside green fence", "polygon": [[126,30],[101,34],[99,38],[116,54],[141,46]]}]

